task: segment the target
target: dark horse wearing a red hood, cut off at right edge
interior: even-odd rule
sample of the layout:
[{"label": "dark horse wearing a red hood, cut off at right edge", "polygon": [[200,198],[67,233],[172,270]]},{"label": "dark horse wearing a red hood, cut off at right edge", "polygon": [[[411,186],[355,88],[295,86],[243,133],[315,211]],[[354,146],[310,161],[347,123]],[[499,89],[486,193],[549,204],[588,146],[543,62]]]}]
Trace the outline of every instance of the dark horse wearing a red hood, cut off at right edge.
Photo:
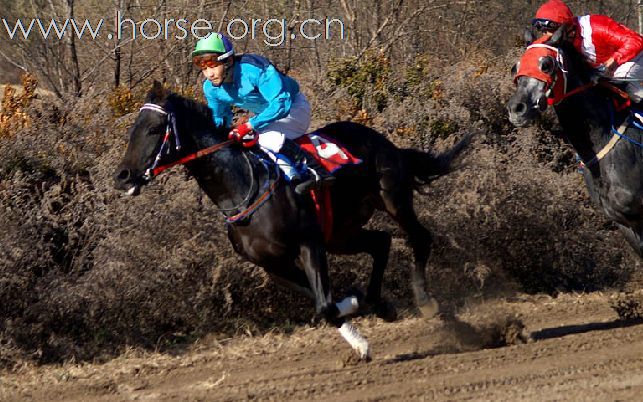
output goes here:
[{"label": "dark horse wearing a red hood, cut off at right edge", "polygon": [[614,221],[643,258],[643,148],[641,130],[616,102],[622,91],[594,85],[593,71],[561,28],[527,47],[507,103],[517,127],[531,123],[554,104],[565,136],[584,164],[585,183],[595,204]]}]

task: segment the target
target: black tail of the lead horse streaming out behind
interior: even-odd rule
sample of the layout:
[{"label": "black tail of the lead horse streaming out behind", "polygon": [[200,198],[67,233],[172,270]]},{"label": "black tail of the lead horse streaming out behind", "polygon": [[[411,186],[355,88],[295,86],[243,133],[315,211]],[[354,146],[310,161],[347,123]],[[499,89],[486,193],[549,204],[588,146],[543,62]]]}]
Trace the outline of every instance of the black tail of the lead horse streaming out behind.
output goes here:
[{"label": "black tail of the lead horse streaming out behind", "polygon": [[455,169],[453,161],[470,142],[471,134],[467,134],[451,149],[438,155],[417,149],[401,149],[402,157],[415,178],[415,187],[419,188],[453,171]]}]

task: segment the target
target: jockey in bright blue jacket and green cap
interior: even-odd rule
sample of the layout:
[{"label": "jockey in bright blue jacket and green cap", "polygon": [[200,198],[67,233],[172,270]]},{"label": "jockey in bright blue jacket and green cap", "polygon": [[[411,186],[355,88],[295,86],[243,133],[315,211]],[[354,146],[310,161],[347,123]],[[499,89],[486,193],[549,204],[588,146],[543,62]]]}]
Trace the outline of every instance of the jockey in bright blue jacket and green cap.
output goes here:
[{"label": "jockey in bright blue jacket and green cap", "polygon": [[[199,40],[192,58],[206,78],[203,93],[217,126],[232,125],[232,105],[254,114],[230,131],[230,139],[245,147],[258,142],[291,181],[300,182],[298,194],[332,183],[334,177],[292,141],[310,126],[310,105],[294,79],[264,57],[235,56],[230,40],[219,33]],[[301,163],[312,173],[304,180],[293,166]]]}]

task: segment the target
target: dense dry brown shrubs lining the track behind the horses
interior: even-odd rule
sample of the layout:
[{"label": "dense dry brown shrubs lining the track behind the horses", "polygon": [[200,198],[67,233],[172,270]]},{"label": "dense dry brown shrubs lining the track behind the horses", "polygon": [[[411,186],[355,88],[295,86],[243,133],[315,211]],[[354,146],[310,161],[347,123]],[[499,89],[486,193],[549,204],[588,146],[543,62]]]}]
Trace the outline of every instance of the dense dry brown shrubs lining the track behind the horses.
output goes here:
[{"label": "dense dry brown shrubs lining the track behind the horses", "polygon": [[[555,119],[523,130],[508,123],[512,61],[435,65],[424,81],[392,69],[375,79],[389,91],[381,111],[356,108],[347,87],[300,80],[316,125],[363,118],[399,146],[432,150],[476,134],[461,168],[416,197],[435,237],[429,290],[445,309],[515,290],[619,287],[634,266],[613,225],[589,204],[571,151],[550,134]],[[213,332],[287,330],[313,314],[308,300],[241,262],[219,212],[182,168],[136,198],[111,188],[135,118],[127,102],[116,120],[113,104],[91,94],[32,104],[32,125],[0,139],[3,365],[96,359],[129,346],[163,350]],[[404,234],[382,213],[369,227],[393,234],[384,294],[412,307]],[[368,280],[369,258],[330,263],[336,297]]]}]

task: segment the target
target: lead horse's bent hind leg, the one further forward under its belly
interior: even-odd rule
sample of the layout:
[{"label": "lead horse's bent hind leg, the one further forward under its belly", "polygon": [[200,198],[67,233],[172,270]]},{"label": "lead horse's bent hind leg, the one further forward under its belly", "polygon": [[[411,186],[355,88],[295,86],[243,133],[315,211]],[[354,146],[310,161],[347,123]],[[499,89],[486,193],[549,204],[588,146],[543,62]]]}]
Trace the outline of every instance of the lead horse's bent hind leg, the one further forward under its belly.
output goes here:
[{"label": "lead horse's bent hind leg, the one further forward under its belly", "polygon": [[390,250],[391,235],[389,233],[381,230],[362,229],[357,233],[351,232],[341,242],[333,242],[331,251],[334,254],[370,254],[373,258],[373,269],[365,301],[372,306],[378,317],[386,321],[395,321],[397,317],[395,308],[382,300],[382,281]]}]

